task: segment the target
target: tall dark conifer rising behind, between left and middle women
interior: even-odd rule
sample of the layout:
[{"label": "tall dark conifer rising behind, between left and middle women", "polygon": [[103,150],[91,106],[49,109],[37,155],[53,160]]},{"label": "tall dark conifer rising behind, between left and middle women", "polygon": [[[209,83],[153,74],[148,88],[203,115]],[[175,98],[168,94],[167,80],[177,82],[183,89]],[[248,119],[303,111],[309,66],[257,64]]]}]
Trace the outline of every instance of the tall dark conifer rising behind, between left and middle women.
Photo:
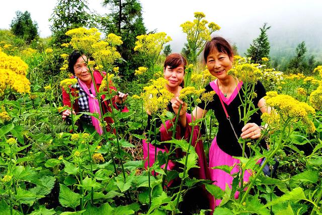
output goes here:
[{"label": "tall dark conifer rising behind, between left and middle women", "polygon": [[102,30],[122,37],[118,47],[124,61],[120,62],[120,74],[132,78],[134,70],[141,66],[142,59],[134,52],[136,37],[146,33],[141,4],[137,0],[104,0],[103,6],[110,6],[111,13],[101,19]]}]

